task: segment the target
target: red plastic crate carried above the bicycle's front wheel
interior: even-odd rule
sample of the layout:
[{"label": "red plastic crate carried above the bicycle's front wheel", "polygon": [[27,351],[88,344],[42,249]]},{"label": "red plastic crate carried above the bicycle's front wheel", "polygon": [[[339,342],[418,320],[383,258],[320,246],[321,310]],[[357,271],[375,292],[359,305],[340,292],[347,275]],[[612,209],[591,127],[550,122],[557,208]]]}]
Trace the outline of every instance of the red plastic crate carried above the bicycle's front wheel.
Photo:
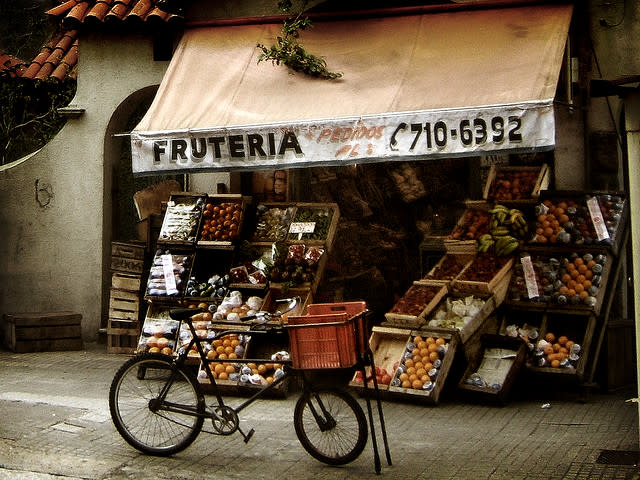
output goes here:
[{"label": "red plastic crate carried above the bicycle's front wheel", "polygon": [[348,368],[357,362],[354,318],[346,312],[288,317],[293,368]]}]

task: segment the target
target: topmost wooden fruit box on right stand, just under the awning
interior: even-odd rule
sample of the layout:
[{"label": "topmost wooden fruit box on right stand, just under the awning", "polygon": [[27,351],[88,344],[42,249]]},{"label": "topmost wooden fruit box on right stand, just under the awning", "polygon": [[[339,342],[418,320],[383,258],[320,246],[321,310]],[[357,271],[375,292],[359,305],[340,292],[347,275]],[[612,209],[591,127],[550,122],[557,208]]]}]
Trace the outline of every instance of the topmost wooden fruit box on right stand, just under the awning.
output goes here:
[{"label": "topmost wooden fruit box on right stand, just under the awning", "polygon": [[[500,180],[508,181],[509,187],[513,189],[513,180],[520,174],[528,177],[527,183],[530,184],[530,188],[527,191],[520,192],[520,194],[509,198],[509,194],[512,194],[513,190],[509,194],[496,190],[496,181]],[[546,190],[549,187],[550,180],[551,172],[547,164],[543,164],[540,167],[492,165],[487,176],[482,198],[497,203],[531,203],[538,198],[542,190]]]}]

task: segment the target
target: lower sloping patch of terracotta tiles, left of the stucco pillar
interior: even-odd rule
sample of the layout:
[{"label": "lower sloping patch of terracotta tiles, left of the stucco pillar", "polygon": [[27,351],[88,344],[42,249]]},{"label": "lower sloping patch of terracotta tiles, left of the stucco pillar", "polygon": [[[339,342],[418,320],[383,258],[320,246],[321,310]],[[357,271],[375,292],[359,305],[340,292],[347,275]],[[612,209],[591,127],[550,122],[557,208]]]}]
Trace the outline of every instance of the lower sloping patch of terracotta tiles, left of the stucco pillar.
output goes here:
[{"label": "lower sloping patch of terracotta tiles, left of the stucco pillar", "polygon": [[68,72],[74,71],[78,63],[78,31],[59,32],[47,43],[22,78],[45,79],[49,76],[64,80]]}]

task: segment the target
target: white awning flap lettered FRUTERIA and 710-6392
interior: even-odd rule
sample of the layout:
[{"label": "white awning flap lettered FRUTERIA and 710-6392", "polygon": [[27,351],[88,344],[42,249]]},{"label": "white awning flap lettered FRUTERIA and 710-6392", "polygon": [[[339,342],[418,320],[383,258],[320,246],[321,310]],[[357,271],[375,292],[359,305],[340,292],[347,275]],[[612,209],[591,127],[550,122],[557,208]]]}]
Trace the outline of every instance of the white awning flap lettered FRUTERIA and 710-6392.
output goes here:
[{"label": "white awning flap lettered FRUTERIA and 710-6392", "polygon": [[134,174],[421,160],[554,145],[551,101],[131,134]]}]

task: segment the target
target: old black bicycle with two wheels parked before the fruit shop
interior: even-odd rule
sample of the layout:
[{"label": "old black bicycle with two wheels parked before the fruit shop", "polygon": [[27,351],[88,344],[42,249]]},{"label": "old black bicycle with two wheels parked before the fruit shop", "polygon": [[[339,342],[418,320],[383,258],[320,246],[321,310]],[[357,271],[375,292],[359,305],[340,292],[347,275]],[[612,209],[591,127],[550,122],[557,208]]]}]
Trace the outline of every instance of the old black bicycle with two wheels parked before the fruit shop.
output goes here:
[{"label": "old black bicycle with two wheels parked before the fruit shop", "polygon": [[[299,327],[286,325],[283,315],[294,309],[300,298],[283,299],[279,302],[286,304],[285,310],[273,314],[260,312],[243,318],[245,321],[253,320],[249,330],[229,329],[216,336],[265,335],[291,328],[323,328],[332,325],[353,326],[354,340],[357,341],[360,336],[357,325],[361,322],[355,322],[353,318],[348,322],[305,322],[305,325]],[[223,436],[239,432],[246,443],[254,430],[246,433],[242,431],[239,413],[277,388],[287,378],[296,376],[302,380],[302,393],[295,404],[293,418],[295,432],[303,448],[312,457],[328,465],[344,465],[358,458],[368,437],[367,419],[360,404],[346,390],[314,384],[305,370],[293,368],[291,360],[279,361],[283,365],[282,375],[276,377],[273,383],[258,388],[236,407],[225,404],[211,370],[203,368],[215,397],[215,403],[207,405],[201,384],[186,364],[187,354],[193,347],[196,348],[203,367],[212,362],[207,358],[202,340],[192,322],[191,317],[195,313],[197,312],[193,309],[174,309],[170,312],[172,319],[186,322],[191,334],[188,344],[179,350],[177,356],[140,353],[125,362],[116,372],[109,390],[109,409],[117,431],[127,443],[143,453],[156,456],[168,456],[186,449],[201,431]],[[367,349],[368,347],[360,348],[360,351],[366,352]],[[372,355],[370,358],[368,355],[360,355],[357,367],[364,373],[365,365],[372,365],[372,359]],[[244,358],[236,362],[266,363],[273,360]],[[373,370],[372,368],[371,371]],[[372,376],[377,393],[375,374]],[[379,473],[380,458],[368,395],[366,402],[375,469]],[[391,465],[379,397],[378,409],[387,461]],[[203,430],[205,420],[211,421],[212,430]]]}]

